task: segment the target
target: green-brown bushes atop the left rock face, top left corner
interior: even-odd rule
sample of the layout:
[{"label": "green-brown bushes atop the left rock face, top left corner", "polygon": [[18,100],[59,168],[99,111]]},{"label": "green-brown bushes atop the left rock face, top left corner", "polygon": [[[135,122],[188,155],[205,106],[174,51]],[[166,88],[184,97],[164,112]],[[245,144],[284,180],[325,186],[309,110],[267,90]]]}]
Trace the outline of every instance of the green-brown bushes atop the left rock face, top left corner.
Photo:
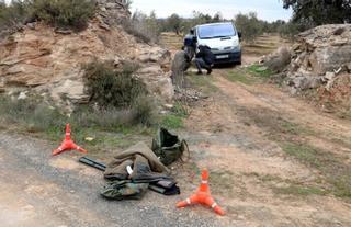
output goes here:
[{"label": "green-brown bushes atop the left rock face, top left corner", "polygon": [[13,0],[0,1],[0,29],[18,31],[26,22],[44,21],[56,27],[81,30],[95,12],[94,0]]}]

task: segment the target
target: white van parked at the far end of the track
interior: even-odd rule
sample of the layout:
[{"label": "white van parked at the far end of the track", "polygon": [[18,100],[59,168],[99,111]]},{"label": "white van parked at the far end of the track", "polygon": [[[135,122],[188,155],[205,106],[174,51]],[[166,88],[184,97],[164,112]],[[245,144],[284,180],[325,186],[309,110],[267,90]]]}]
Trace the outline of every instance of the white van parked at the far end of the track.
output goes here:
[{"label": "white van parked at the far end of the track", "polygon": [[215,64],[241,65],[241,34],[231,22],[202,24],[195,26],[193,35],[196,45],[206,45],[215,55]]}]

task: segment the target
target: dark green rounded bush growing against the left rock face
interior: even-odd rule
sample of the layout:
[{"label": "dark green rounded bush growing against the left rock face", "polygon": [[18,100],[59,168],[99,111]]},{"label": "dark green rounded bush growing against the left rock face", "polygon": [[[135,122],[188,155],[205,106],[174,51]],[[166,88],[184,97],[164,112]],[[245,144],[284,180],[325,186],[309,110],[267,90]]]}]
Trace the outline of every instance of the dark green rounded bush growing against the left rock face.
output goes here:
[{"label": "dark green rounded bush growing against the left rock face", "polygon": [[[122,111],[129,116],[129,124],[150,125],[154,122],[154,104],[145,83],[133,78],[138,67],[125,64],[121,71],[109,64],[93,61],[86,69],[86,86],[90,101],[105,111]],[[124,117],[125,118],[125,117]]]}]

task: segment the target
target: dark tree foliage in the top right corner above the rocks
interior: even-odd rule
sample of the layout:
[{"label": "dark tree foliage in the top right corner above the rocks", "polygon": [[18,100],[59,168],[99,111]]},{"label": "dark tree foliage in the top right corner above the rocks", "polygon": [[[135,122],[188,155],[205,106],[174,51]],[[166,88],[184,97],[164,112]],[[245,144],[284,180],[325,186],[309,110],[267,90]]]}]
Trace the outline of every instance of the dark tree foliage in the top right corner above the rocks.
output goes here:
[{"label": "dark tree foliage in the top right corner above the rocks", "polygon": [[351,22],[351,0],[283,0],[294,11],[293,21],[310,26]]}]

